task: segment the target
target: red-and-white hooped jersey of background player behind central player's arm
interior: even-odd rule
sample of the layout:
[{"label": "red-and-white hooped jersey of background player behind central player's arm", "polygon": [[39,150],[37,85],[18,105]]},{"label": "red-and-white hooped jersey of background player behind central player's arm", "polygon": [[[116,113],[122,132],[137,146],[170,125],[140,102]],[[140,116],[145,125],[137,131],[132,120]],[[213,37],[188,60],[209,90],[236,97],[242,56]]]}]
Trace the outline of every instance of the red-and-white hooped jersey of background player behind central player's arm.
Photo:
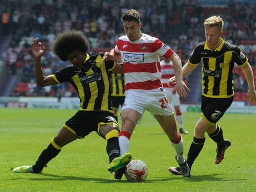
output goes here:
[{"label": "red-and-white hooped jersey of background player behind central player's arm", "polygon": [[[160,66],[161,66],[161,73],[162,73],[161,81],[162,81],[163,87],[167,88],[168,87],[167,82],[169,78],[175,76],[174,64],[171,60],[168,63],[165,63],[165,60],[162,60],[160,62]],[[171,87],[174,87],[174,86],[175,86],[175,83],[172,83]]]}]

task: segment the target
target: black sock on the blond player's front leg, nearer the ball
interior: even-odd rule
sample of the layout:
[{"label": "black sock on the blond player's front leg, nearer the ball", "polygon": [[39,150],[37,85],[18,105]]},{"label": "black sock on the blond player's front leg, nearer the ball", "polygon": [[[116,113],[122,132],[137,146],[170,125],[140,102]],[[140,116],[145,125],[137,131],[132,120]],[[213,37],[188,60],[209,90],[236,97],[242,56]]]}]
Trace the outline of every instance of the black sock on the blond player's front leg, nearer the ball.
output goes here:
[{"label": "black sock on the blond player's front leg, nearer the ball", "polygon": [[189,151],[187,153],[187,165],[189,166],[190,170],[192,164],[196,160],[197,156],[201,152],[206,138],[193,138],[193,142],[190,145]]}]

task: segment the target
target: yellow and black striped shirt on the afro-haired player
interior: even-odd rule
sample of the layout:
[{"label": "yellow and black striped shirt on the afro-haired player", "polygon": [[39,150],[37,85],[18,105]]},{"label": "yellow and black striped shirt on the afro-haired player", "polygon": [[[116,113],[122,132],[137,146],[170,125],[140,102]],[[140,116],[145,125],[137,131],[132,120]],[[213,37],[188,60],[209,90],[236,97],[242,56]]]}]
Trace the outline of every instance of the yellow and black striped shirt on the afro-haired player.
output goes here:
[{"label": "yellow and black striped shirt on the afro-haired player", "polygon": [[113,61],[102,61],[104,54],[87,57],[80,68],[66,67],[51,75],[56,82],[70,82],[78,92],[80,110],[113,112],[109,72],[115,67]]}]

